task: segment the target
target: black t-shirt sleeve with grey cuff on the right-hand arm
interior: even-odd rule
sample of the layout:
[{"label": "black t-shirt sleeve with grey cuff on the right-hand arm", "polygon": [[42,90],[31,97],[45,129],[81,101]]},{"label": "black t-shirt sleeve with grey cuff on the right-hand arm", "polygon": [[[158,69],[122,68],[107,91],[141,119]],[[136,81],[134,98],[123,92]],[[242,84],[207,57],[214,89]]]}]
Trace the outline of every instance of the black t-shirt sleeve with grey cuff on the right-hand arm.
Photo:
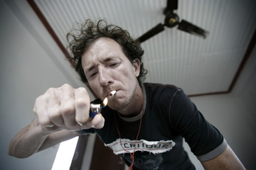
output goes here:
[{"label": "black t-shirt sleeve with grey cuff on the right-hand arm", "polygon": [[200,111],[179,89],[169,108],[173,128],[185,138],[191,152],[200,161],[206,161],[223,153],[227,147],[223,135],[217,128],[208,123]]}]

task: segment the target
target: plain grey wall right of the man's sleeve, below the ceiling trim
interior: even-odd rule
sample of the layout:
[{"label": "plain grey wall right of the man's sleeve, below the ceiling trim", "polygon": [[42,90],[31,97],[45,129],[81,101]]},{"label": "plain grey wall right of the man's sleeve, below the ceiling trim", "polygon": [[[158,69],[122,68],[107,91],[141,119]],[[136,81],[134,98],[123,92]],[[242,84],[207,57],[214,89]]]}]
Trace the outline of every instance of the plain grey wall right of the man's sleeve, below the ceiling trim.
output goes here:
[{"label": "plain grey wall right of the man's sleeve, below the ceiling trim", "polygon": [[198,109],[223,133],[247,169],[256,162],[256,47],[230,94],[193,97]]}]

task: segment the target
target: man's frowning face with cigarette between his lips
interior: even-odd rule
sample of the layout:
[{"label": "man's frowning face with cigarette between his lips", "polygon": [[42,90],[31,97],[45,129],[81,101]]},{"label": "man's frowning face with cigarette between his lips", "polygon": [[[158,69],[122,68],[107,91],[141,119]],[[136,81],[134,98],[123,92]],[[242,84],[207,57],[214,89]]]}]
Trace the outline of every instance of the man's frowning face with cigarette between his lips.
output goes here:
[{"label": "man's frowning face with cigarette between his lips", "polygon": [[103,100],[110,91],[117,91],[109,98],[110,108],[119,111],[136,95],[139,60],[134,60],[133,64],[129,62],[120,45],[111,38],[100,38],[93,42],[82,55],[82,67],[98,98]]}]

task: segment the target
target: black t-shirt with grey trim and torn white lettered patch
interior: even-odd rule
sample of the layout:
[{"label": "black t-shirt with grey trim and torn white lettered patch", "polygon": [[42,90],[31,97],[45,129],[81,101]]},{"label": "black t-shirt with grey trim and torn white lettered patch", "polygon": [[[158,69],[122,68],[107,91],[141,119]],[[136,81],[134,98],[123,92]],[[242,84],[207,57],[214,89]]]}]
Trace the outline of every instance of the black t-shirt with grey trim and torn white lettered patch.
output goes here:
[{"label": "black t-shirt with grey trim and torn white lettered patch", "polygon": [[[122,118],[106,107],[102,109],[104,128],[80,132],[96,132],[114,154],[123,157],[128,166],[132,164],[128,152],[134,152],[135,148],[133,169],[194,169],[183,149],[183,137],[201,161],[213,159],[224,151],[227,144],[223,135],[203,118],[182,89],[146,83],[143,91],[143,115]],[[141,130],[136,141],[141,117]]]}]

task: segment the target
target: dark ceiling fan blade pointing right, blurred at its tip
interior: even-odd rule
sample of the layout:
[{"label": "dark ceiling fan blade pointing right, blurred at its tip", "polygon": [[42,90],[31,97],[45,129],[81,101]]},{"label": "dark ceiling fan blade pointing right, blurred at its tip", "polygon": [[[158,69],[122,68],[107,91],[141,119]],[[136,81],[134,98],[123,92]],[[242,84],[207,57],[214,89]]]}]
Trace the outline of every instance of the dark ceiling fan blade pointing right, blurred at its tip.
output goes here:
[{"label": "dark ceiling fan blade pointing right, blurred at its tip", "polygon": [[178,23],[178,29],[186,31],[187,33],[201,36],[203,38],[206,38],[209,34],[207,30],[203,30],[202,28],[199,28],[198,26],[195,26],[192,23],[188,23],[188,21],[184,20],[182,20],[181,23]]}]

